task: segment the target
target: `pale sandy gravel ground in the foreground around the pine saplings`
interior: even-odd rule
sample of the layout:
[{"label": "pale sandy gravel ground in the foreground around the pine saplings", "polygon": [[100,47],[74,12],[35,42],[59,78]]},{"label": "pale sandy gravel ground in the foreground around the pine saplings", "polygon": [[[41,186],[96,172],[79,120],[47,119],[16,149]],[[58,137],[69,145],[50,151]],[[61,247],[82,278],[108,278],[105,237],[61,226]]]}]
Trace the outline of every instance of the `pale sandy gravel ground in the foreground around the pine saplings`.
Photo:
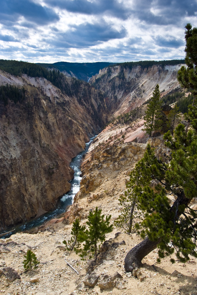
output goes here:
[{"label": "pale sandy gravel ground in the foreground around the pine saplings", "polygon": [[[112,208],[113,209],[113,208]],[[4,242],[9,242],[7,246],[9,252],[1,253],[1,268],[6,266],[14,268],[18,273],[24,271],[22,261],[24,253],[28,248],[32,248],[39,258],[40,264],[36,270],[22,273],[21,279],[16,279],[13,283],[6,281],[4,275],[1,276],[0,293],[2,294],[29,294],[29,295],[67,295],[71,294],[197,294],[197,272],[196,259],[191,259],[188,263],[178,263],[172,265],[168,258],[162,260],[161,264],[156,263],[157,251],[151,252],[143,259],[142,275],[144,281],[140,282],[138,278],[131,276],[131,273],[124,271],[124,258],[128,250],[135,246],[140,238],[135,234],[120,234],[116,241],[125,241],[125,245],[120,245],[113,256],[108,257],[103,264],[97,267],[97,273],[100,275],[113,275],[116,271],[122,276],[122,286],[124,289],[100,290],[84,287],[77,289],[77,285],[83,281],[89,263],[88,260],[82,261],[74,252],[64,251],[62,241],[69,238],[71,226],[65,226],[55,233],[43,232],[37,235],[16,234]],[[106,239],[115,236],[117,230],[108,234]],[[16,244],[15,244],[16,243]],[[69,262],[77,269],[79,274],[70,268]],[[30,283],[32,277],[37,277],[38,282]]]}]

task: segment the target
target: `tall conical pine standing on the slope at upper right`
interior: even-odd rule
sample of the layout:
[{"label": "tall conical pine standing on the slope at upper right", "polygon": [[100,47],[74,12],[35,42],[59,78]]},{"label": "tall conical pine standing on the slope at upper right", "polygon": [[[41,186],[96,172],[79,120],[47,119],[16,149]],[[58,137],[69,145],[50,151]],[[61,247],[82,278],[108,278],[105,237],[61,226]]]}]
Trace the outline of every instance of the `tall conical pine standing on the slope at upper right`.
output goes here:
[{"label": "tall conical pine standing on the slope at upper right", "polygon": [[161,101],[160,98],[160,92],[159,92],[159,85],[157,84],[155,86],[155,89],[153,91],[153,97],[151,97],[148,105],[147,110],[145,111],[145,128],[143,130],[146,131],[146,134],[151,137],[154,130],[157,130],[160,127],[160,106]]}]

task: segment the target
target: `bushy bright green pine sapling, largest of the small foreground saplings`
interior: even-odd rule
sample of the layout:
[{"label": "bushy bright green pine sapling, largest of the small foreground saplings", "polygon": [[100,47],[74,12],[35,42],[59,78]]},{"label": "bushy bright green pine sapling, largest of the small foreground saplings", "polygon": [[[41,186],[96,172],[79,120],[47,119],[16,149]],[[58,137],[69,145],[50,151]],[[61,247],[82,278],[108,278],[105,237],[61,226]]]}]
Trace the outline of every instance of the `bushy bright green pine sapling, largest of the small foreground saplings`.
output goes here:
[{"label": "bushy bright green pine sapling, largest of the small foreground saplings", "polygon": [[90,211],[86,222],[89,229],[82,233],[80,240],[85,241],[82,254],[80,256],[84,257],[87,252],[90,251],[97,254],[98,242],[103,242],[105,240],[105,234],[111,232],[113,225],[110,224],[111,215],[104,219],[104,214],[101,215],[102,209],[96,207],[95,211]]}]

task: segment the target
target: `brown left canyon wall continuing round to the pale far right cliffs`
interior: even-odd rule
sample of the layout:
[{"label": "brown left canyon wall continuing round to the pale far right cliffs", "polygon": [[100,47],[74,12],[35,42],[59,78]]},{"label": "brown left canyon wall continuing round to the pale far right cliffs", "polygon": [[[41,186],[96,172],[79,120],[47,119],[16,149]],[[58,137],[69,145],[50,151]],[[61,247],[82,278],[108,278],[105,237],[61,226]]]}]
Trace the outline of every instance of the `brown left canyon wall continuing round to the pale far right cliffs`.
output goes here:
[{"label": "brown left canyon wall continuing round to the pale far right cliffs", "polygon": [[[45,78],[1,71],[1,85],[23,86],[26,95],[23,103],[0,102],[1,230],[53,209],[69,191],[69,163],[85,142],[111,118],[149,99],[157,83],[163,95],[176,88],[180,67],[107,67],[89,84],[65,77],[67,93]],[[138,124],[142,129],[143,117]]]}]

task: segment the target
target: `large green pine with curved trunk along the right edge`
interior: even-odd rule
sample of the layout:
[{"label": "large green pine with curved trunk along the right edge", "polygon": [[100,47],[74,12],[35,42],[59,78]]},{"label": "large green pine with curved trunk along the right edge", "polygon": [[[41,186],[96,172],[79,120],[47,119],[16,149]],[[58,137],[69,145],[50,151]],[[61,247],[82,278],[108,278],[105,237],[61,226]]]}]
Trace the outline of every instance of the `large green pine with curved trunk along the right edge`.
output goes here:
[{"label": "large green pine with curved trunk along the right edge", "polygon": [[[184,80],[188,80],[185,87],[190,87],[196,95],[197,47],[191,48],[196,38],[193,42],[190,38],[194,37],[197,29],[191,30],[189,24],[186,29],[186,57],[190,69],[182,68],[178,79],[181,77],[182,85]],[[144,212],[144,219],[138,226],[144,240],[126,255],[126,271],[132,271],[136,266],[140,266],[141,260],[156,247],[159,248],[159,261],[166,255],[171,257],[173,253],[176,253],[179,261],[187,261],[189,255],[197,257],[197,212],[190,207],[191,200],[197,196],[195,105],[190,107],[187,118],[191,124],[188,132],[183,124],[179,124],[174,137],[170,135],[170,131],[164,136],[166,145],[171,149],[169,163],[167,160],[163,162],[156,158],[154,149],[148,145],[143,159],[136,164],[130,175],[130,188],[137,195],[138,206]],[[171,204],[167,192],[174,196]],[[173,257],[171,262],[174,262]]]}]

